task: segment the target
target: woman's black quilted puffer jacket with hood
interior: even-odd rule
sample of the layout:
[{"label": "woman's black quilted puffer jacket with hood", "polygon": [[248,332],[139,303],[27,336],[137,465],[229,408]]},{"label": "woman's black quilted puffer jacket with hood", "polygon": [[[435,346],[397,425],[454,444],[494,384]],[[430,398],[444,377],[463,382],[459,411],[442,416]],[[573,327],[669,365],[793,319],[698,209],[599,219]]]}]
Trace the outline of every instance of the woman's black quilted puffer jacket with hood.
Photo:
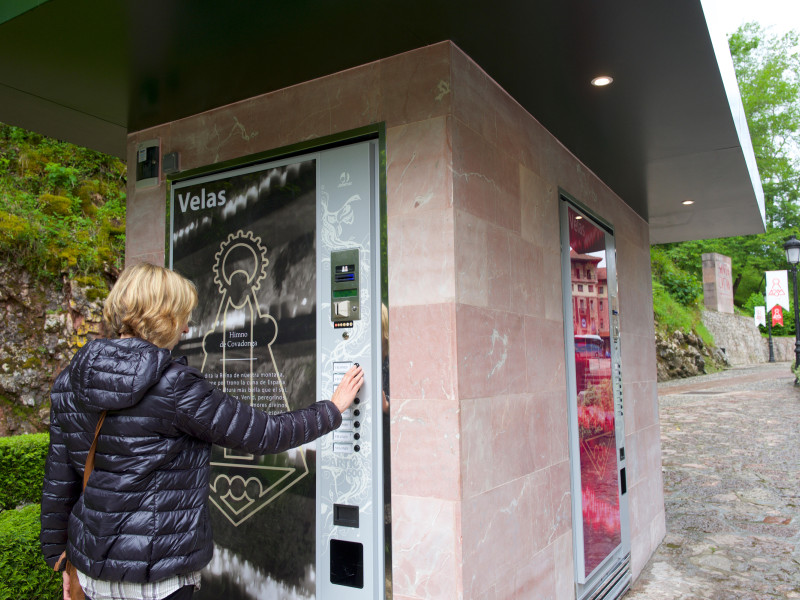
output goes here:
[{"label": "woman's black quilted puffer jacket with hood", "polygon": [[[81,495],[100,412],[95,468]],[[211,444],[283,452],[341,424],[332,402],[268,416],[140,339],[86,344],[52,391],[42,491],[42,552],[95,579],[148,582],[211,559]]]}]

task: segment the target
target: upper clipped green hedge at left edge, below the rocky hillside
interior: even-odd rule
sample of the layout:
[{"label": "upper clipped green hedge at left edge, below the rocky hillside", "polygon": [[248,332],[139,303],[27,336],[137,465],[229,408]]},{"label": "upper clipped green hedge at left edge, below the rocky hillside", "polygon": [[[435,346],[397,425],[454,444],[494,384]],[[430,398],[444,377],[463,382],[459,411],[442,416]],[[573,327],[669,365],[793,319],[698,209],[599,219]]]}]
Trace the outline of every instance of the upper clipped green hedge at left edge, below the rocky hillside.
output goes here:
[{"label": "upper clipped green hedge at left edge, below the rocky hillside", "polygon": [[0,508],[41,500],[49,442],[47,433],[0,438]]}]

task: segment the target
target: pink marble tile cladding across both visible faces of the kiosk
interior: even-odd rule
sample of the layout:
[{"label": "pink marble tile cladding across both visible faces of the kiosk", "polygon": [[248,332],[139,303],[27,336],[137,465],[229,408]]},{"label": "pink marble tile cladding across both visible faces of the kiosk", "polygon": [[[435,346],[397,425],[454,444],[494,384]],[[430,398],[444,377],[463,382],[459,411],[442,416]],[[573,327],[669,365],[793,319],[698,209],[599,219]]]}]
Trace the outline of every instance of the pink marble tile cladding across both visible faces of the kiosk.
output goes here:
[{"label": "pink marble tile cladding across both visible faces of the kiosk", "polygon": [[[188,170],[378,122],[394,598],[574,595],[559,187],[620,231],[638,571],[664,521],[647,225],[457,47],[420,48],[132,134],[128,164],[140,140],[180,152]],[[129,186],[129,264],[163,261],[165,209],[163,182]]]}]

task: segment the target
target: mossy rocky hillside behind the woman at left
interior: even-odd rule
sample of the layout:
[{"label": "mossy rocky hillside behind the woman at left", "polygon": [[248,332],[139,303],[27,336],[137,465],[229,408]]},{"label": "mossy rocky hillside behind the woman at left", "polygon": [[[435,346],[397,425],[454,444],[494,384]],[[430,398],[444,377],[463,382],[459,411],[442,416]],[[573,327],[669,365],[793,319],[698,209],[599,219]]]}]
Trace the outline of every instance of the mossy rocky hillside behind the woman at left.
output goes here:
[{"label": "mossy rocky hillside behind the woman at left", "polygon": [[0,435],[46,429],[53,379],[100,332],[125,188],[119,159],[0,123]]}]

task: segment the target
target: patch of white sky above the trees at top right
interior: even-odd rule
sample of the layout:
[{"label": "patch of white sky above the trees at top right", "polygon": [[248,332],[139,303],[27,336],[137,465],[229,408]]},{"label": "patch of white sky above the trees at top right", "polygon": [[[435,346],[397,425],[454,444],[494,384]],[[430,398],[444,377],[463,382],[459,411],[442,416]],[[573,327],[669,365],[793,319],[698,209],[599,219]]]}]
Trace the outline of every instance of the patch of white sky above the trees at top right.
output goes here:
[{"label": "patch of white sky above the trees at top right", "polygon": [[790,29],[800,33],[800,0],[703,0],[703,5],[713,5],[714,19],[726,34],[749,21],[778,35]]}]

